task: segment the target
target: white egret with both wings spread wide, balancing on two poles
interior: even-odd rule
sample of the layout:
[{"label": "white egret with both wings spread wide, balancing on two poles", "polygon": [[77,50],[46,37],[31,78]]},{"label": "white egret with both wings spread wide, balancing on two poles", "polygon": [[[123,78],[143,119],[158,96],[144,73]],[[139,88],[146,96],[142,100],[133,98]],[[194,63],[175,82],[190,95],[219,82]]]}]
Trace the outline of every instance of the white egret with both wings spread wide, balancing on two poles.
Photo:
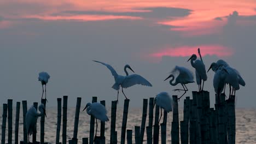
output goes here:
[{"label": "white egret with both wings spread wide, balancing on two poles", "polygon": [[[130,65],[128,65],[128,64],[126,64],[124,67],[126,76],[123,76],[123,75],[118,75],[117,72],[114,70],[114,68],[111,67],[111,65],[109,65],[109,64],[99,62],[99,61],[94,61],[94,62],[101,63],[101,64],[105,65],[111,71],[111,73],[115,79],[115,83],[112,86],[112,88],[114,88],[115,90],[118,91],[118,95],[119,95],[120,86],[122,88],[123,94],[124,94],[123,88],[131,87],[136,84],[152,87],[151,83],[149,81],[147,81],[146,79],[144,79],[144,77],[137,75],[137,74],[129,75],[126,70],[127,68],[129,68],[133,73],[134,73],[134,71],[131,69]],[[125,94],[124,94],[124,96],[127,99]],[[117,97],[117,102],[118,102],[118,97]]]}]

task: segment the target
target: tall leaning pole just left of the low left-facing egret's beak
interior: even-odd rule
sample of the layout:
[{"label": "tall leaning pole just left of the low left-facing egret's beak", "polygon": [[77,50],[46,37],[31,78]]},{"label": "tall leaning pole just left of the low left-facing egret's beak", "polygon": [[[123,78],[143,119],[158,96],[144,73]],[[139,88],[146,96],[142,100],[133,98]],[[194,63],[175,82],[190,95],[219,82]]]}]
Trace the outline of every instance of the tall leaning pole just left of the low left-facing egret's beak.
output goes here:
[{"label": "tall leaning pole just left of the low left-facing egret's beak", "polygon": [[73,143],[77,143],[77,132],[78,132],[78,123],[79,123],[79,113],[81,107],[82,98],[77,98],[77,106],[75,106],[75,120],[74,120],[74,133],[73,133]]}]

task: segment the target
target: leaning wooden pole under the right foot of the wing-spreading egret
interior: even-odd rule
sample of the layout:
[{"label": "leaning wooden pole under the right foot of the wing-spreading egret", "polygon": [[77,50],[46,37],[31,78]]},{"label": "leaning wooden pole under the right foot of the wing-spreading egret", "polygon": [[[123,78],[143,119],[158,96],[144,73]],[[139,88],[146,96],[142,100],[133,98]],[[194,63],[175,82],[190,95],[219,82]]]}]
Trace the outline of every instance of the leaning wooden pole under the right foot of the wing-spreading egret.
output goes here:
[{"label": "leaning wooden pole under the right foot of the wing-spreading egret", "polygon": [[125,133],[126,133],[129,101],[130,101],[129,99],[125,99],[124,101],[123,122],[122,122],[122,129],[121,129],[121,144],[125,143]]}]

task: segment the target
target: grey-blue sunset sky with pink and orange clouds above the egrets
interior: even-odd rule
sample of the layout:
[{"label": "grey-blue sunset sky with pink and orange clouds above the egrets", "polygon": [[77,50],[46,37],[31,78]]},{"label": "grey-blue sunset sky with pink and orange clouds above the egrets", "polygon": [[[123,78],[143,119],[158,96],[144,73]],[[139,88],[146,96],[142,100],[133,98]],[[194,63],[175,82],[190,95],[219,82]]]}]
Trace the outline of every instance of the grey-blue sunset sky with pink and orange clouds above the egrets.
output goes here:
[{"label": "grey-blue sunset sky with pink and orange clouds above the egrets", "polygon": [[[47,71],[49,106],[68,95],[68,105],[117,98],[110,71],[92,60],[113,66],[118,74],[129,64],[153,87],[124,90],[130,105],[160,92],[181,95],[164,79],[175,65],[195,72],[187,60],[200,47],[208,69],[224,59],[240,71],[246,87],[237,91],[237,107],[256,108],[256,1],[0,1],[1,105],[7,99],[40,101],[38,73]],[[132,73],[129,71],[130,74]],[[205,90],[214,101],[210,71]],[[195,83],[187,85],[191,97]],[[228,91],[226,91],[228,92]],[[183,99],[179,104],[183,105]],[[119,96],[123,106],[124,96]]]}]

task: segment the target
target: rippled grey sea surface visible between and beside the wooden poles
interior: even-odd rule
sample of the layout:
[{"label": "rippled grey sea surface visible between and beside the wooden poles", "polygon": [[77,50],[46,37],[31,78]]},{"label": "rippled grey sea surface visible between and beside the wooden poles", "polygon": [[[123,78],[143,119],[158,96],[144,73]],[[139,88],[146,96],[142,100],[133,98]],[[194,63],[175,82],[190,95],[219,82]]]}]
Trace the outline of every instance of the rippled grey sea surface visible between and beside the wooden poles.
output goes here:
[{"label": "rippled grey sea surface visible between and beside the wooden poles", "polygon": [[[28,107],[29,108],[29,107]],[[82,109],[82,107],[81,107]],[[15,128],[15,107],[13,108],[13,143],[14,143],[14,128]],[[82,109],[83,110],[83,109]],[[82,143],[82,137],[89,137],[90,129],[90,117],[87,113],[80,110],[79,127],[78,127],[78,141]],[[2,127],[2,112],[3,109],[0,107],[1,117],[0,124]],[[57,108],[46,107],[47,117],[45,118],[45,142],[55,143],[56,141],[56,127],[57,127]],[[68,108],[67,112],[67,140],[72,139],[73,129],[74,129],[74,115],[75,108]],[[108,117],[110,119],[110,109],[108,109]],[[141,125],[142,110],[136,108],[130,108],[127,119],[127,129],[133,130],[133,143],[134,139],[134,126]],[[118,131],[118,143],[120,143],[121,136],[121,124],[123,119],[123,108],[118,107],[117,109],[117,124],[116,130]],[[179,120],[183,120],[183,110],[179,110]],[[20,124],[19,124],[19,141],[23,140],[23,117],[22,117],[22,107],[20,109]],[[162,122],[162,121],[161,121]],[[171,122],[172,122],[172,112],[168,113],[167,117],[167,143],[171,142]],[[148,125],[148,116],[147,123]],[[95,126],[96,127],[96,126]],[[40,118],[38,118],[37,123],[37,141],[40,141]],[[8,119],[7,128],[5,132],[5,143],[8,139]],[[100,135],[100,121],[98,121],[98,135]],[[0,131],[2,135],[2,130]],[[61,132],[60,132],[60,142],[62,142],[62,120],[61,120]],[[110,121],[106,122],[106,143],[109,143],[110,138]],[[32,140],[32,136],[30,138]],[[144,143],[146,142],[146,130],[144,133]],[[159,136],[159,140],[160,136]],[[256,143],[256,110],[255,109],[236,109],[236,143]]]}]

